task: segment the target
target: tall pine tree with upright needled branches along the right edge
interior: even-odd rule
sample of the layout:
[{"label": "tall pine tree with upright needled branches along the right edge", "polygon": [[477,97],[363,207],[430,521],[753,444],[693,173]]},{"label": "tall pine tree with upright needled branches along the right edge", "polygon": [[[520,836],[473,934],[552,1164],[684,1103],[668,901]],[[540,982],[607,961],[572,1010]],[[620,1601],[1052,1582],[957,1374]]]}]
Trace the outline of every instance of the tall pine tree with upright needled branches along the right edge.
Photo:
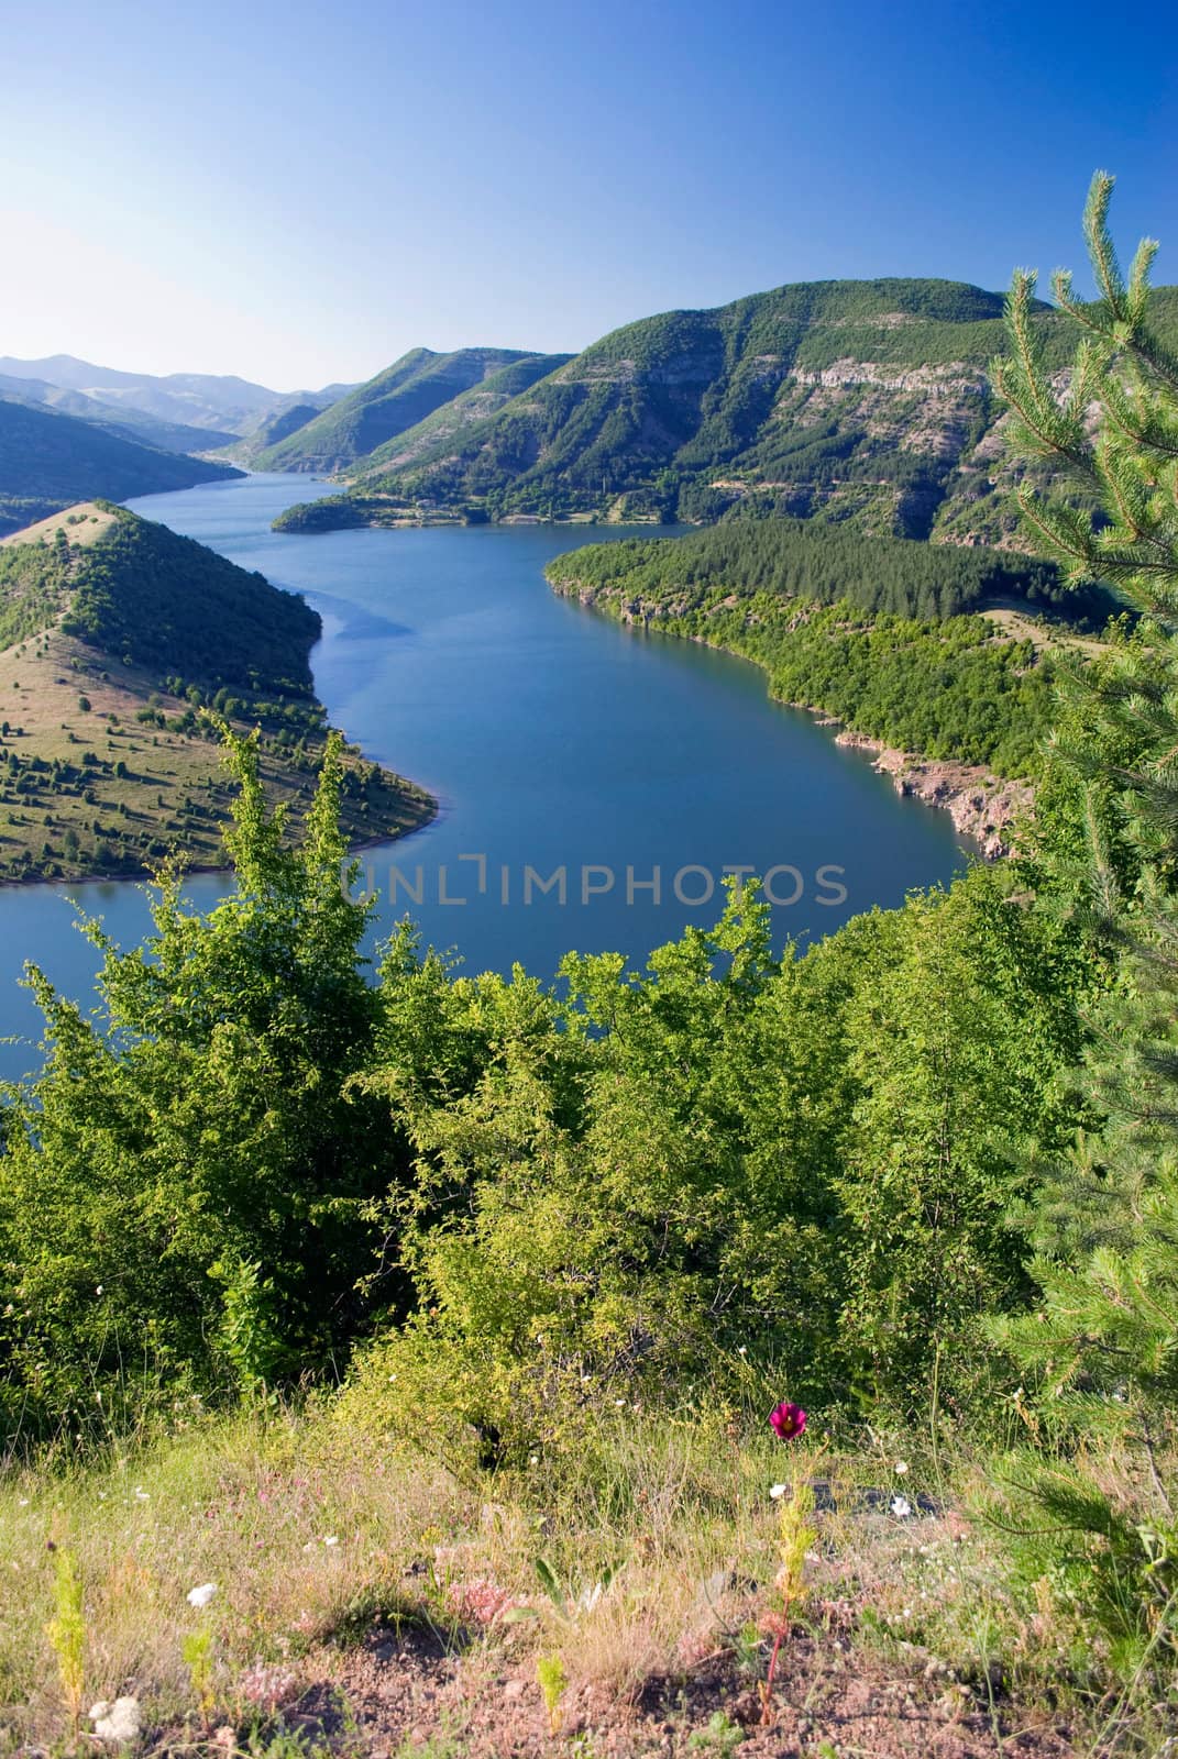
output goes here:
[{"label": "tall pine tree with upright needled branches along the right edge", "polygon": [[[1081,1441],[1076,1460],[1030,1474],[1049,1516],[1028,1537],[1034,1567],[1069,1585],[1139,1683],[1178,1650],[1178,359],[1150,329],[1157,245],[1139,245],[1125,280],[1111,190],[1097,172],[1085,209],[1097,301],[1064,271],[1051,283],[1081,332],[1065,387],[1044,364],[1028,271],[993,366],[1012,450],[1053,473],[1051,493],[1034,468],[1020,484],[1025,529],[1072,586],[1102,582],[1129,614],[1065,681],[1048,767],[1065,828],[1046,830],[1046,890],[1106,969],[1078,1082],[1097,1129],[1032,1215],[1041,1307],[998,1335],[1035,1379],[1039,1435],[1046,1420]],[[1085,1463],[1097,1435],[1115,1449],[1106,1465],[1129,1453],[1120,1483]]]}]

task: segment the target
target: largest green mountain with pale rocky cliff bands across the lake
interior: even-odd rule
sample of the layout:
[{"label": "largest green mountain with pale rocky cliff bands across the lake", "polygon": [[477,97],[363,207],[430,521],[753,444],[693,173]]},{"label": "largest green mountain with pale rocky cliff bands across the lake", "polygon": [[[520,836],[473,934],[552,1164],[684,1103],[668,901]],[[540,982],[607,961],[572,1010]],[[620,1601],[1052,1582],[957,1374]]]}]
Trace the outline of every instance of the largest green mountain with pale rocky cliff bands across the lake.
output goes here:
[{"label": "largest green mountain with pale rocky cliff bands across the lake", "polygon": [[[335,512],[292,508],[283,526],[710,521],[745,505],[880,535],[1011,542],[988,378],[1002,304],[961,281],[806,281],[644,318],[482,419],[419,426],[396,454],[357,459]],[[1178,339],[1178,288],[1155,292],[1153,320]],[[1041,306],[1039,322],[1065,368],[1060,318]]]}]

